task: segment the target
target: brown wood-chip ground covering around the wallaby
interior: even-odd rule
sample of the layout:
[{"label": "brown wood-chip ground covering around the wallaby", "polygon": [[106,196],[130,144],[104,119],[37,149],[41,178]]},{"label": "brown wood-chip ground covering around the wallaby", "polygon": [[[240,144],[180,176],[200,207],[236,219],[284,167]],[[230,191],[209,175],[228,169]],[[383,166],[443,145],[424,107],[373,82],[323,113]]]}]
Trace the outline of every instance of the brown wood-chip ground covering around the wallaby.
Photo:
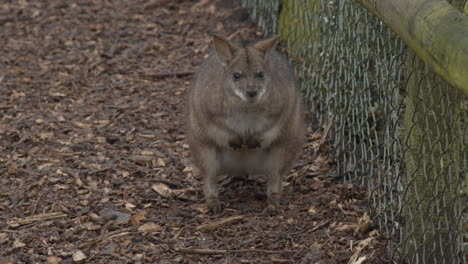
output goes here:
[{"label": "brown wood-chip ground covering around the wallaby", "polygon": [[185,95],[211,34],[257,30],[238,1],[1,1],[0,263],[387,263],[321,128],[279,214],[232,178],[207,212]]}]

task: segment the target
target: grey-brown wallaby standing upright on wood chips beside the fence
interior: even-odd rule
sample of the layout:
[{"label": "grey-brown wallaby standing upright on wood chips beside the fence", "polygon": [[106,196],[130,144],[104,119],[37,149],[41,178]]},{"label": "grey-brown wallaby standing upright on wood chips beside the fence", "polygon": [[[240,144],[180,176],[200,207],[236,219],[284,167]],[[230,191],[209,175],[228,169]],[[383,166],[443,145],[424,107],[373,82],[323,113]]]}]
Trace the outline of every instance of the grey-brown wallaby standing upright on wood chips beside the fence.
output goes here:
[{"label": "grey-brown wallaby standing upright on wood chips beside the fence", "polygon": [[301,152],[301,97],[292,67],[275,49],[277,40],[240,47],[214,35],[189,92],[187,139],[214,212],[221,210],[222,174],[265,175],[266,209],[276,211],[282,178]]}]

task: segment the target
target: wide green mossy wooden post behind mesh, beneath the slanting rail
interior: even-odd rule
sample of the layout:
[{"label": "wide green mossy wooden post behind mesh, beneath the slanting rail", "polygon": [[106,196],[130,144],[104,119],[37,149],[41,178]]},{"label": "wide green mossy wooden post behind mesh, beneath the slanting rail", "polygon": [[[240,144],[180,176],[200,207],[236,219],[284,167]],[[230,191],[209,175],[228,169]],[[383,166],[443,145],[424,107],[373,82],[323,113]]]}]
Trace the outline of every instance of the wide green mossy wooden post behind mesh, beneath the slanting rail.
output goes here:
[{"label": "wide green mossy wooden post behind mesh, beneath the slanting rail", "polygon": [[413,52],[407,63],[404,258],[408,263],[454,263],[466,180],[460,169],[466,163],[465,99]]}]

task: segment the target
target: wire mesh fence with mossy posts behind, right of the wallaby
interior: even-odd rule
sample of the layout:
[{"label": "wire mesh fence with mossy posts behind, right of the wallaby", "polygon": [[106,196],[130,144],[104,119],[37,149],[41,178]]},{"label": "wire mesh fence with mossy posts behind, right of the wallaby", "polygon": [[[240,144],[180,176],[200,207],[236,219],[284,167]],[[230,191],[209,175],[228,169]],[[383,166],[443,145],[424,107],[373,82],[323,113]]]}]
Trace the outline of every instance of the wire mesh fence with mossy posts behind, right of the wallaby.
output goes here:
[{"label": "wire mesh fence with mossy posts behind, right of the wallaby", "polygon": [[467,97],[349,0],[244,0],[278,34],[337,176],[368,186],[393,263],[466,263]]}]

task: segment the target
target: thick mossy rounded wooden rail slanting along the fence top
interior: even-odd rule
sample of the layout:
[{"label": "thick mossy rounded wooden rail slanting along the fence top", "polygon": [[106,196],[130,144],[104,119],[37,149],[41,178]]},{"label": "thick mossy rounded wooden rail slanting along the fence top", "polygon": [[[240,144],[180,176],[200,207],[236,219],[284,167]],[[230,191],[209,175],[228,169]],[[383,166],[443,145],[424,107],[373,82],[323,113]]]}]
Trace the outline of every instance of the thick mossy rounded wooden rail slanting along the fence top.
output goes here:
[{"label": "thick mossy rounded wooden rail slanting along the fence top", "polygon": [[358,2],[395,31],[433,71],[468,93],[468,17],[460,10],[445,0]]}]

